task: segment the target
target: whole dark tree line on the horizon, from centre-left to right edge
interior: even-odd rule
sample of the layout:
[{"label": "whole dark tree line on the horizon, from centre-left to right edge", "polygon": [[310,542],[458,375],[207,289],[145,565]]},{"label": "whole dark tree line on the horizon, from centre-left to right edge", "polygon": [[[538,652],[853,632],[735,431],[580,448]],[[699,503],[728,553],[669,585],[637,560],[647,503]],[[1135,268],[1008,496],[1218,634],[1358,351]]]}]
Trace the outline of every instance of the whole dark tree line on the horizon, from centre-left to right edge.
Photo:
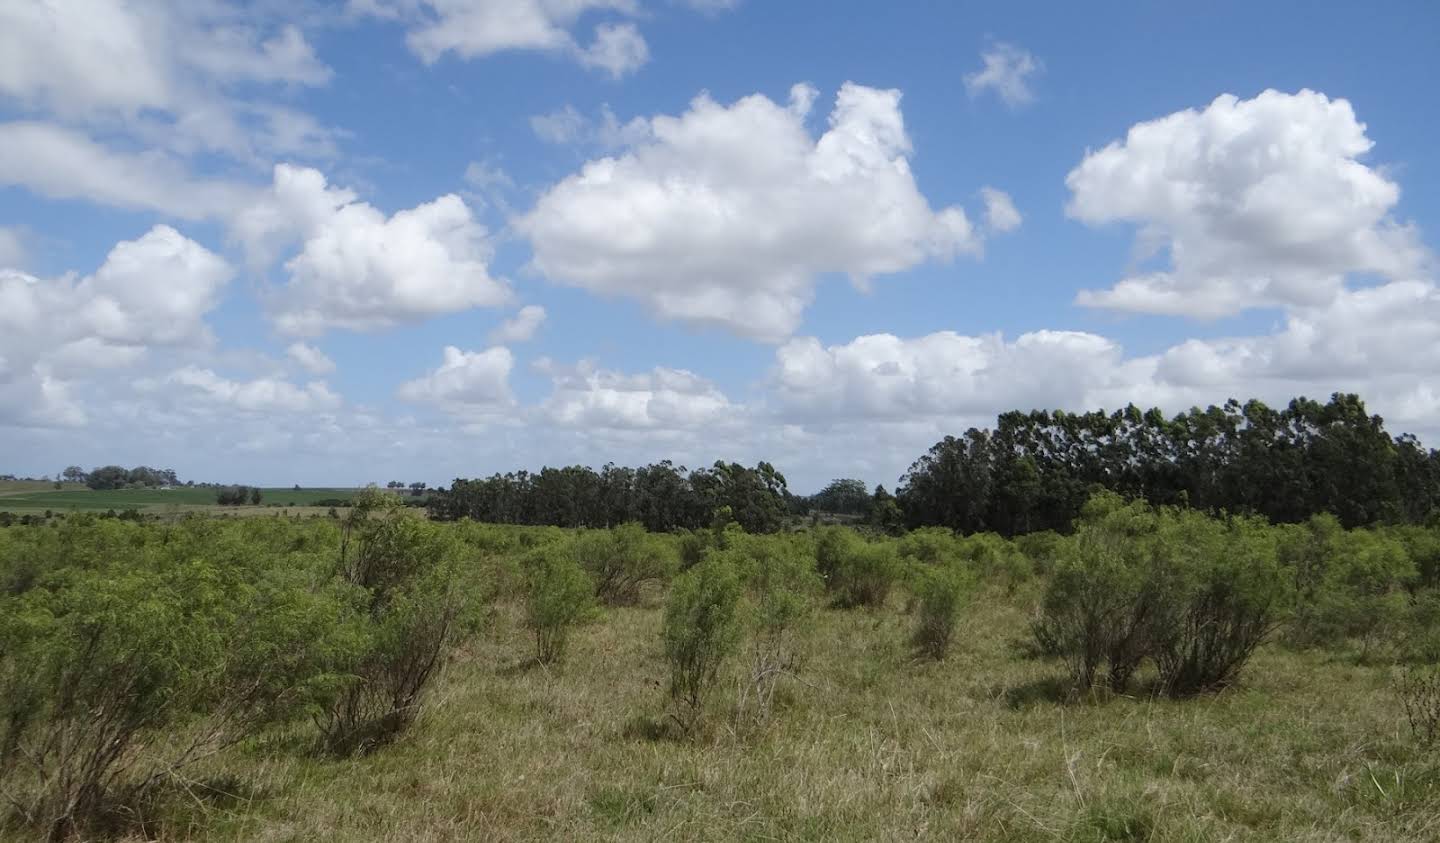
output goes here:
[{"label": "whole dark tree line on the horizon, from centre-left to right edge", "polygon": [[606,464],[456,478],[433,490],[439,520],[603,527],[698,529],[721,507],[747,532],[796,516],[835,514],[886,533],[949,527],[1017,536],[1068,532],[1084,501],[1112,491],[1152,506],[1299,523],[1329,513],[1345,527],[1424,523],[1440,507],[1440,451],[1391,435],[1356,395],[1282,409],[1228,401],[1174,416],[1135,405],[1115,412],[1011,411],[991,429],[945,437],[916,460],[896,493],[855,478],[812,496],[789,491],[769,463],[687,470],[668,461]]}]

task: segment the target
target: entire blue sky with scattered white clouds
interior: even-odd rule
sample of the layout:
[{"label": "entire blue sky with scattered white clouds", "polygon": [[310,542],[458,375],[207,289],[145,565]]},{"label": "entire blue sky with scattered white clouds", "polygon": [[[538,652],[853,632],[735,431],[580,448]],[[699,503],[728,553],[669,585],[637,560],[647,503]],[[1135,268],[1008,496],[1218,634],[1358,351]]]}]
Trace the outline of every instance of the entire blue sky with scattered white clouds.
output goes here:
[{"label": "entire blue sky with scattered white clouds", "polygon": [[766,460],[1358,392],[1440,444],[1440,7],[0,1],[0,473]]}]

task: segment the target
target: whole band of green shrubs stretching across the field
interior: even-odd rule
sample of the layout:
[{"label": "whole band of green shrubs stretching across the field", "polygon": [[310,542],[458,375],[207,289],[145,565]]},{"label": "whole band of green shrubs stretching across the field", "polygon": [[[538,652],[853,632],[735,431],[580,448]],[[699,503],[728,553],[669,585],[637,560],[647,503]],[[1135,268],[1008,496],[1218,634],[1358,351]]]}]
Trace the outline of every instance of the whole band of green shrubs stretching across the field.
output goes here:
[{"label": "whole band of green shrubs stretching across the field", "polygon": [[[652,679],[685,735],[727,699],[736,726],[765,725],[824,687],[802,676],[834,647],[812,634],[827,604],[868,608],[852,623],[893,637],[884,653],[909,635],[942,660],[963,651],[966,605],[991,599],[1034,610],[1035,650],[1077,693],[1218,692],[1279,633],[1328,659],[1400,663],[1397,728],[1421,742],[1440,732],[1440,530],[1428,527],[1272,526],[1110,493],[1067,535],[1018,540],[943,527],[752,535],[723,507],[662,535],[435,523],[377,491],[353,503],[343,519],[71,514],[0,529],[4,821],[42,837],[145,836],[158,785],[238,742],[284,732],[304,736],[292,751],[377,751],[436,699],[482,618],[511,607],[536,657],[557,661],[592,614],[662,599],[651,646],[668,683]],[[881,614],[901,611],[896,591],[909,597],[904,631]]]}]

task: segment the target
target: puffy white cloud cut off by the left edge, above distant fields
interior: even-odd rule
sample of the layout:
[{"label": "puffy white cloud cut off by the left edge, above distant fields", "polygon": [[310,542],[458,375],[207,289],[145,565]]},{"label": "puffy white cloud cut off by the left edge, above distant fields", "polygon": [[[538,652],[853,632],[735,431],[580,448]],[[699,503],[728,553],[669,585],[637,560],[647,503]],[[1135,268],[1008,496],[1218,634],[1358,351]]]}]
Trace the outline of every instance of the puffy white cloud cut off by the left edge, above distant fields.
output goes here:
[{"label": "puffy white cloud cut off by the left edge, above distant fields", "polygon": [[84,424],[75,379],[134,365],[156,346],[204,344],[204,314],[232,277],[168,226],[115,245],[84,278],[0,271],[0,422]]}]

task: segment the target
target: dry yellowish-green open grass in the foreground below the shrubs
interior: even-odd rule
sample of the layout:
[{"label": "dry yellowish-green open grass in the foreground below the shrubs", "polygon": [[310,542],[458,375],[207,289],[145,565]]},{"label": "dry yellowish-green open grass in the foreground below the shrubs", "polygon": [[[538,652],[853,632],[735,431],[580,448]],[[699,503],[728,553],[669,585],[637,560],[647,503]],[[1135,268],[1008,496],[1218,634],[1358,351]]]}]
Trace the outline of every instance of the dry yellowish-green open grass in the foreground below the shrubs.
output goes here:
[{"label": "dry yellowish-green open grass in the foreground below the shrubs", "polygon": [[[321,759],[310,732],[187,771],[164,839],[216,840],[1375,840],[1440,839],[1440,764],[1388,670],[1263,648],[1188,702],[1058,700],[1028,657],[1028,599],[978,595],[953,654],[912,617],[821,614],[766,726],[726,700],[707,735],[664,725],[660,610],[608,610],[559,667],[517,607],[444,677],[416,729]],[[733,692],[727,692],[733,700]]]}]

